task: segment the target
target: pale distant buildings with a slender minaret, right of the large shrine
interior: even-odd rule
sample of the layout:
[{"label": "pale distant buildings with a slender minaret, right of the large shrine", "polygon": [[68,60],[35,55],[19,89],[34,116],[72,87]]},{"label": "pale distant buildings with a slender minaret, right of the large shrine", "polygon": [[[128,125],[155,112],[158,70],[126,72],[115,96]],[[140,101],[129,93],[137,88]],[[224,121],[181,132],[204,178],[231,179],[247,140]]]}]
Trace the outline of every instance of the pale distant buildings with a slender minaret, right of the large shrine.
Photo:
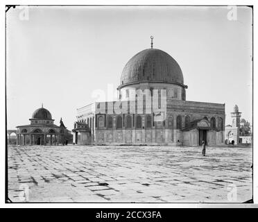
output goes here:
[{"label": "pale distant buildings with a slender minaret, right of the large shrine", "polygon": [[225,144],[251,144],[252,130],[246,119],[241,119],[239,107],[234,105],[234,112],[231,112],[232,125],[225,126]]}]

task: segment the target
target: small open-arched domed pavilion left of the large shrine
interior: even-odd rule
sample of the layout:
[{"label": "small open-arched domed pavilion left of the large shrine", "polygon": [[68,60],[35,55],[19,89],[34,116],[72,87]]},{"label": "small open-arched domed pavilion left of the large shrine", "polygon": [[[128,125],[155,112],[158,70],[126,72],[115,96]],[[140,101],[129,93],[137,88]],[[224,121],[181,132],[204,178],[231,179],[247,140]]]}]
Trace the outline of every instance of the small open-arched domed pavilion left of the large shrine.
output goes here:
[{"label": "small open-arched domed pavilion left of the large shrine", "polygon": [[32,114],[31,124],[17,126],[17,145],[63,144],[66,127],[60,119],[60,126],[54,124],[51,112],[39,108]]}]

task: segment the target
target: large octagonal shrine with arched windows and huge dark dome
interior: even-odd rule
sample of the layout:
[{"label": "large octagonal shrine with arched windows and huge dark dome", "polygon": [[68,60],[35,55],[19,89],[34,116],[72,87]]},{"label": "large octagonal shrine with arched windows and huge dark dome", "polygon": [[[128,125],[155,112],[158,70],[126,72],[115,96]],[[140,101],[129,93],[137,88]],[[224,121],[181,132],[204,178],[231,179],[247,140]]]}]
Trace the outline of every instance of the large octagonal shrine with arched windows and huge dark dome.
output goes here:
[{"label": "large octagonal shrine with arched windows and huge dark dome", "polygon": [[87,124],[92,144],[223,144],[225,103],[187,101],[186,89],[178,62],[151,42],[123,68],[117,101],[78,108],[76,123]]}]

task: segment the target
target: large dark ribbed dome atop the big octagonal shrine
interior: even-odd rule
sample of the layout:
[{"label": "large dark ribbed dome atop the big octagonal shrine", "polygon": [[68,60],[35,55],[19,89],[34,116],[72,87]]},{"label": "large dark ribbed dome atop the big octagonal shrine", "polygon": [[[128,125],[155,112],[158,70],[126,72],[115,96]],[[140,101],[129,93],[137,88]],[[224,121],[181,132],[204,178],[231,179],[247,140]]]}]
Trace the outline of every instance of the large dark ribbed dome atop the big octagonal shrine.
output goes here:
[{"label": "large dark ribbed dome atop the big octagonal shrine", "polygon": [[184,85],[184,77],[178,62],[168,53],[160,49],[145,49],[127,62],[119,87],[139,82]]}]

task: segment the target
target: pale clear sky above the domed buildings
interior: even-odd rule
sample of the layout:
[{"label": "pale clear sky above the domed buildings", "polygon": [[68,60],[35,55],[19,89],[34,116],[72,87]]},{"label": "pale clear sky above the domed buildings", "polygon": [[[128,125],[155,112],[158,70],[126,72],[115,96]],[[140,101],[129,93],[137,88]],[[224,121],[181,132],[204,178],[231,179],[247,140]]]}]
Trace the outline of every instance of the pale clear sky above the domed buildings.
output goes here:
[{"label": "pale clear sky above the domed buildings", "polygon": [[226,104],[226,123],[239,105],[252,121],[252,10],[227,7],[30,7],[6,13],[8,129],[48,109],[71,130],[76,108],[96,89],[119,85],[121,71],[150,47],[180,65],[187,100]]}]

